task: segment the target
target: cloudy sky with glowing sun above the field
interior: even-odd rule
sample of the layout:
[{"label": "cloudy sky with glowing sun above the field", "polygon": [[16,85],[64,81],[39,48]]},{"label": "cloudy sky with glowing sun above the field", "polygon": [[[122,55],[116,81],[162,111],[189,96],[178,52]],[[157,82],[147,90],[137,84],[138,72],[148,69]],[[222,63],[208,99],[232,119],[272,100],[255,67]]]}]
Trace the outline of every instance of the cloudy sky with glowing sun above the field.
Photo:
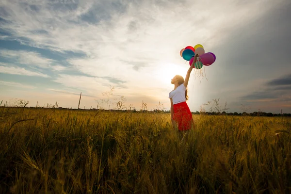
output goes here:
[{"label": "cloudy sky with glowing sun above the field", "polygon": [[110,103],[169,110],[171,79],[190,66],[179,52],[201,44],[216,61],[191,73],[192,112],[219,98],[228,112],[291,113],[290,10],[290,0],[1,0],[0,100],[77,108],[82,93],[81,108],[106,108],[113,86]]}]

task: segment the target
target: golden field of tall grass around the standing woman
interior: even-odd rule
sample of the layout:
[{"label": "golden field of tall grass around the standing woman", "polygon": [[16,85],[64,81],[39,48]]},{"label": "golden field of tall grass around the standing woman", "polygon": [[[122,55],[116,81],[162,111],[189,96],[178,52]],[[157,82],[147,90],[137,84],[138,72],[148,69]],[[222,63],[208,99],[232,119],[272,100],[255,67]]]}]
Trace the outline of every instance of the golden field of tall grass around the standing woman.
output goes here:
[{"label": "golden field of tall grass around the standing woman", "polygon": [[291,193],[290,117],[193,118],[1,107],[0,193]]}]

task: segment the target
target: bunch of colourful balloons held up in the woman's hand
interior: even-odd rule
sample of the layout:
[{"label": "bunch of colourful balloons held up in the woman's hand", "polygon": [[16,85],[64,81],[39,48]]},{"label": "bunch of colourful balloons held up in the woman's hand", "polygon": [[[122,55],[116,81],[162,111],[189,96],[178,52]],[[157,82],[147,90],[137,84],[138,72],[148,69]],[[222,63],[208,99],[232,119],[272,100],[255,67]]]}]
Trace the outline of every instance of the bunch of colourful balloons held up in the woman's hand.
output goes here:
[{"label": "bunch of colourful balloons held up in the woman's hand", "polygon": [[212,65],[216,60],[216,56],[212,52],[205,53],[203,46],[199,44],[195,45],[195,47],[188,46],[180,51],[181,57],[186,61],[189,61],[190,65],[193,63],[195,54],[199,54],[199,57],[197,57],[197,61],[194,64],[196,69],[201,69],[203,65]]}]

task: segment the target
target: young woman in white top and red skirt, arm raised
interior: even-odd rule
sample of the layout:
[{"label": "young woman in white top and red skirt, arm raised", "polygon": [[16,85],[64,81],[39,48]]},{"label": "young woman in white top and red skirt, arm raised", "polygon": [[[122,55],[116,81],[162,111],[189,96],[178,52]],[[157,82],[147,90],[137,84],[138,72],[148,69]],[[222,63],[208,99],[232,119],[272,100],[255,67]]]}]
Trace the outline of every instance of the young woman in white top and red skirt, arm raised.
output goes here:
[{"label": "young woman in white top and red skirt, arm raised", "polygon": [[195,55],[192,65],[187,71],[186,78],[180,75],[176,75],[171,83],[175,85],[174,90],[169,93],[171,100],[171,120],[172,124],[178,125],[179,131],[189,130],[193,126],[192,113],[186,103],[188,100],[187,96],[187,85],[190,78],[190,73],[196,63],[198,54]]}]

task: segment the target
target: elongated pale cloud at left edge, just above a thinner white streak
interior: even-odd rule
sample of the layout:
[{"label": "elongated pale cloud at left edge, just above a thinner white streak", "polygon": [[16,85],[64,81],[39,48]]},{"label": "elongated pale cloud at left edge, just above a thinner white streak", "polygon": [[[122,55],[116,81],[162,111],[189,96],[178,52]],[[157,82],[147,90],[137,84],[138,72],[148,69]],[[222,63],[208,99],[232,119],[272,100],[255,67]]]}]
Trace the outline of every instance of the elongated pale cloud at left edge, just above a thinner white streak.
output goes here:
[{"label": "elongated pale cloud at left edge, just above a thinner white streak", "polygon": [[24,64],[40,68],[52,68],[56,71],[62,71],[65,66],[55,65],[57,62],[52,59],[45,58],[37,52],[26,50],[8,50],[1,49],[0,57],[12,60],[12,63]]}]

